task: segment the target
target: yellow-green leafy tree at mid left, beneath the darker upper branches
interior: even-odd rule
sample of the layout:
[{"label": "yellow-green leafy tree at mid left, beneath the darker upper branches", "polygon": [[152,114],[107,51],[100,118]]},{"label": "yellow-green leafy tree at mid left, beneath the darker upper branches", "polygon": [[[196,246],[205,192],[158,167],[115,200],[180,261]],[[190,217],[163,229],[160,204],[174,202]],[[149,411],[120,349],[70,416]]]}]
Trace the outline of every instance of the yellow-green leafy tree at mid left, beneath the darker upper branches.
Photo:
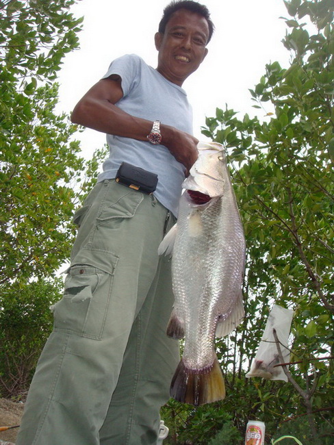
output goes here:
[{"label": "yellow-green leafy tree at mid left, beneath the darker upper branches", "polygon": [[16,124],[0,163],[0,285],[49,275],[68,255],[75,192],[70,187],[84,162],[74,126],[53,114],[57,86],[29,99],[31,120]]}]

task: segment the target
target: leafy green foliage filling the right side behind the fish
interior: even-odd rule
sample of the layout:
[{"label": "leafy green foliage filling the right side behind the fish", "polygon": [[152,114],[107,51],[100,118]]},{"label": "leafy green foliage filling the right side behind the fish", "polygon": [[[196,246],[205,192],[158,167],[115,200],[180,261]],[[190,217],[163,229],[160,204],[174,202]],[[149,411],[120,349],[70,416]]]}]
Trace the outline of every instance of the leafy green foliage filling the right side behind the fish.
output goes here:
[{"label": "leafy green foliage filling the right side behind the fish", "polygon": [[[290,18],[285,18],[283,44],[291,53],[290,66],[266,65],[259,84],[250,90],[263,117],[239,118],[228,107],[217,108],[203,128],[229,156],[248,247],[246,317],[216,344],[227,398],[215,409],[197,411],[203,418],[210,413],[216,431],[224,425],[224,412],[242,435],[247,420],[262,420],[268,441],[284,426],[280,435],[294,435],[301,442],[311,437],[323,445],[333,442],[334,406],[334,5],[330,0],[285,5]],[[294,309],[294,387],[244,377],[273,303]],[[196,410],[190,415],[188,407],[174,409],[188,428],[188,436],[177,443],[201,443],[192,429]],[[209,434],[206,422],[203,429]]]}]

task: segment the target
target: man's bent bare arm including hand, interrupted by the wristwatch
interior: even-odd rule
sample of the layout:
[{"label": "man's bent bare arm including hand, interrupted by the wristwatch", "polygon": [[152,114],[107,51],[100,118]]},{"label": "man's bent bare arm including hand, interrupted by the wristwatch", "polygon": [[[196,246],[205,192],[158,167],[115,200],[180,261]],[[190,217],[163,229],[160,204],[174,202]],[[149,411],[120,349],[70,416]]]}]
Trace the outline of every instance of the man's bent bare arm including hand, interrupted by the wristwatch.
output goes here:
[{"label": "man's bent bare arm including hand, interrupted by the wristwatch", "polygon": [[[92,86],[80,99],[71,115],[73,123],[84,125],[101,131],[136,140],[146,140],[153,122],[131,116],[116,107],[115,103],[123,97],[119,77],[101,79]],[[197,159],[198,140],[194,136],[170,127],[160,125],[162,144],[164,144],[175,159],[190,170]]]}]

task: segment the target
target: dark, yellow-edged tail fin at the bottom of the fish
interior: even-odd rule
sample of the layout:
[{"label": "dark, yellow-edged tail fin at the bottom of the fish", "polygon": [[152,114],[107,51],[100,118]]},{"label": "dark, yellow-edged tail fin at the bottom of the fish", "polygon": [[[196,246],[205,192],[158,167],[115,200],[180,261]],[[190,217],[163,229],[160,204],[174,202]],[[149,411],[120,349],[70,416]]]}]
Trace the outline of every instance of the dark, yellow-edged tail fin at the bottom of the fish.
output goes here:
[{"label": "dark, yellow-edged tail fin at the bottom of the fish", "polygon": [[221,401],[225,397],[225,384],[217,357],[211,368],[196,372],[181,359],[170,384],[170,396],[195,406]]}]

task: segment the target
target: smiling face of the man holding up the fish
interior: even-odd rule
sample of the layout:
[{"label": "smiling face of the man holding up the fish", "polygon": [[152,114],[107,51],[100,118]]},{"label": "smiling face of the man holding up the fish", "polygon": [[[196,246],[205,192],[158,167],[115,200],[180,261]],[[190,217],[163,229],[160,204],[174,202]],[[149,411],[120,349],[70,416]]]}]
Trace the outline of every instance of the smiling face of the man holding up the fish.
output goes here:
[{"label": "smiling face of the man holding up the fish", "polygon": [[203,16],[178,10],[170,17],[164,34],[155,34],[155,47],[159,51],[157,71],[181,86],[207,55],[208,38],[209,26]]}]

